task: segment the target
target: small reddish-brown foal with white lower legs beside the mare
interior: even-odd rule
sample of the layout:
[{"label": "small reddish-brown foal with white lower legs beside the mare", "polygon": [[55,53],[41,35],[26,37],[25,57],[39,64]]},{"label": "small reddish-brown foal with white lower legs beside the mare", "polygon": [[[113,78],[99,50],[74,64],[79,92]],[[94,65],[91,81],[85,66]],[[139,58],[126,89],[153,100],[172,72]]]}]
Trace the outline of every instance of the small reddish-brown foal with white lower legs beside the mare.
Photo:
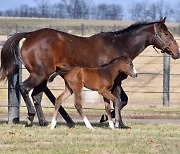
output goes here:
[{"label": "small reddish-brown foal with white lower legs beside the mare", "polygon": [[[64,92],[56,100],[55,110],[50,126],[51,129],[56,126],[57,114],[60,105],[72,93],[74,93],[75,96],[75,107],[82,117],[85,125],[89,129],[93,129],[82,110],[82,89],[83,87],[86,87],[88,89],[98,91],[100,95],[116,104],[118,99],[112,95],[109,90],[112,88],[114,80],[120,72],[125,72],[131,77],[137,77],[137,71],[133,67],[132,60],[126,57],[120,57],[111,62],[109,65],[100,68],[75,67],[71,69],[64,76],[66,86]],[[52,75],[52,78],[61,73],[62,72],[56,72],[56,74]],[[114,129],[114,123],[112,122],[111,117],[111,106],[107,102],[105,102],[105,110],[108,115],[109,126]]]}]

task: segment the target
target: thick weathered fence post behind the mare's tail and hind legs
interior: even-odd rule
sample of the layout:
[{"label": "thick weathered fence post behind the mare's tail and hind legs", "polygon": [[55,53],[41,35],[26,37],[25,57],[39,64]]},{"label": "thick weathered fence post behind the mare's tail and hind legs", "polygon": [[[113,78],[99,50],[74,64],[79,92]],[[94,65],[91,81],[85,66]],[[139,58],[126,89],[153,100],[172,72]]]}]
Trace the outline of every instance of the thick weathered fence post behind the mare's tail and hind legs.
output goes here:
[{"label": "thick weathered fence post behind the mare's tail and hind legs", "polygon": [[[19,50],[19,46],[16,50]],[[22,70],[21,62],[16,59],[16,65],[13,70],[13,75],[8,80],[8,123],[19,123],[20,115],[20,92],[19,82],[21,80]]]}]

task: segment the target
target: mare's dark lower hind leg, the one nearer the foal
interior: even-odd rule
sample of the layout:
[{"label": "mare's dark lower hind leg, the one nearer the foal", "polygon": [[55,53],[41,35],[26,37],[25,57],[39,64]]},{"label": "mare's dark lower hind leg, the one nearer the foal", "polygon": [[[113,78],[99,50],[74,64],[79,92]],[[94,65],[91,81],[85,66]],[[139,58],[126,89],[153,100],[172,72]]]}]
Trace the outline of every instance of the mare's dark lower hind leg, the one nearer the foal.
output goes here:
[{"label": "mare's dark lower hind leg, the one nearer the foal", "polygon": [[33,89],[33,92],[31,95],[34,102],[35,109],[36,109],[36,113],[38,116],[38,121],[41,126],[47,126],[48,124],[48,122],[46,121],[44,117],[42,106],[41,106],[43,89],[46,86],[46,84],[47,84],[47,81],[43,81],[40,85],[36,86]]}]

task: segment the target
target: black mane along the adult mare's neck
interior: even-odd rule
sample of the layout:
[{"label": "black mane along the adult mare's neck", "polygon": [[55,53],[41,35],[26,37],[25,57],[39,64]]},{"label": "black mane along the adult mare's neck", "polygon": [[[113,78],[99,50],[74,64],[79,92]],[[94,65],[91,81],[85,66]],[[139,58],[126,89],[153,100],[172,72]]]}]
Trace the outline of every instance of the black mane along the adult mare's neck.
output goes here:
[{"label": "black mane along the adult mare's neck", "polygon": [[160,21],[156,21],[156,22],[147,22],[147,21],[136,22],[136,23],[130,25],[129,27],[125,28],[125,29],[122,29],[122,30],[119,30],[119,31],[114,31],[114,32],[106,32],[106,33],[110,34],[110,35],[113,35],[113,36],[119,36],[121,34],[131,33],[131,32],[133,32],[135,30],[140,29],[143,26],[148,26],[148,25],[152,25],[152,24],[155,24],[155,23],[160,23]]}]

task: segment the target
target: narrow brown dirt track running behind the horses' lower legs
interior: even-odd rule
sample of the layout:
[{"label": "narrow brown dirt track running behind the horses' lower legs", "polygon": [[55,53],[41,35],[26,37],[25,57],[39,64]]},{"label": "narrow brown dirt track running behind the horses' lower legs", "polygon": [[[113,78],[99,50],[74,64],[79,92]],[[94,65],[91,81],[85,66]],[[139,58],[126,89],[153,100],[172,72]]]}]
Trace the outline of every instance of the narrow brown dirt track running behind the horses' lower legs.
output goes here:
[{"label": "narrow brown dirt track running behind the horses' lower legs", "polygon": [[[73,113],[69,114],[70,117],[73,119],[74,122],[83,122],[81,117],[79,116],[78,113]],[[90,120],[91,123],[99,123],[99,120],[101,118],[101,114],[86,114],[88,119]],[[23,122],[25,121],[27,115],[26,114],[21,114],[20,115],[20,121]],[[46,120],[50,123],[52,114],[45,113]],[[180,125],[180,113],[177,114],[148,114],[144,115],[142,113],[138,114],[123,114],[123,121],[125,123],[137,123],[137,124],[178,124]],[[8,115],[7,114],[0,114],[0,121],[5,121],[8,122]],[[35,122],[38,122],[37,117],[35,117]],[[64,119],[62,116],[58,116],[58,122],[59,123],[65,123]]]}]

